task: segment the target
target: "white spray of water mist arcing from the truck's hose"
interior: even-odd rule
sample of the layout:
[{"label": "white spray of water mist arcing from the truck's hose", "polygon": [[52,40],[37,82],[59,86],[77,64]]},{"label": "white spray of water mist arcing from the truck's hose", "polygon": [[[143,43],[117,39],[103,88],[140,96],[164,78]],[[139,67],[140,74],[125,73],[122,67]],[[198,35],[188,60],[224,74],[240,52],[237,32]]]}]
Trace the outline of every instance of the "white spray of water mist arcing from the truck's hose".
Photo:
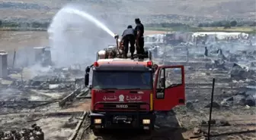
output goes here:
[{"label": "white spray of water mist arcing from the truck's hose", "polygon": [[91,64],[96,52],[114,44],[114,33],[95,17],[67,5],[48,29],[53,62],[59,67]]}]

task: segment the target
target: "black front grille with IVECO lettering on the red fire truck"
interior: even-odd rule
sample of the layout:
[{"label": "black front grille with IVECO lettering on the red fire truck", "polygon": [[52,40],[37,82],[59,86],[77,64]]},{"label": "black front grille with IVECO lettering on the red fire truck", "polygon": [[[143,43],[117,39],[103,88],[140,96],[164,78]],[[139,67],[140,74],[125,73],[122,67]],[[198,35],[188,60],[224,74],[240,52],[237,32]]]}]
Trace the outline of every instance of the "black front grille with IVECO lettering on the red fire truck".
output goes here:
[{"label": "black front grille with IVECO lettering on the red fire truck", "polygon": [[147,110],[146,103],[101,103],[101,110]]}]

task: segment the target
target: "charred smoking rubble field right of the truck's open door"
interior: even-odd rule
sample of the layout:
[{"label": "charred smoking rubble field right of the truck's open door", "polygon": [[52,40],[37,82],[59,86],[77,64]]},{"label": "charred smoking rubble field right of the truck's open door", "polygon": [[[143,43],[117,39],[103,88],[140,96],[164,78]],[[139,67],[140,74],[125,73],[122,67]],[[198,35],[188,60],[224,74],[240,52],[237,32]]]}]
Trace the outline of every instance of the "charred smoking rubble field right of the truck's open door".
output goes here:
[{"label": "charred smoking rubble field right of the truck's open door", "polygon": [[[175,39],[180,34],[173,34],[174,41],[178,41]],[[192,39],[180,44],[165,44],[165,39],[161,42],[158,35],[155,38],[159,42],[148,42],[151,45],[148,48],[155,54],[155,63],[185,66],[187,100],[186,106],[174,108],[175,114],[159,115],[158,120],[165,120],[165,124],[158,124],[158,127],[168,126],[167,118],[175,116],[180,120],[181,126],[189,129],[191,133],[201,135],[202,132],[207,132],[213,78],[216,79],[213,98],[213,120],[216,123],[213,124],[213,132],[238,132],[249,129],[248,126],[255,123],[255,38],[227,40],[213,37],[202,39],[202,42],[198,38],[196,41]],[[205,125],[200,124],[202,120]],[[245,135],[248,138],[256,136]],[[239,139],[238,135],[229,137],[225,135],[221,138]]]}]

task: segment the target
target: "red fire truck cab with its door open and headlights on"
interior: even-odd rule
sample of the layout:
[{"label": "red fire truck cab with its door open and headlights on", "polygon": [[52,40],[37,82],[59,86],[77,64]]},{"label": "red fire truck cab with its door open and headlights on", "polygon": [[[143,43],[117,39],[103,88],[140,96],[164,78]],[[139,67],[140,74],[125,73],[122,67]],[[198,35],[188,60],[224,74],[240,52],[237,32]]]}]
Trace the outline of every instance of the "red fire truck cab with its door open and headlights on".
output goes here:
[{"label": "red fire truck cab with its door open and headlights on", "polygon": [[[184,66],[158,66],[151,52],[143,60],[109,58],[109,47],[98,51],[85,70],[85,86],[91,89],[91,129],[144,129],[151,132],[155,111],[184,104]],[[89,73],[92,70],[89,86]]]}]

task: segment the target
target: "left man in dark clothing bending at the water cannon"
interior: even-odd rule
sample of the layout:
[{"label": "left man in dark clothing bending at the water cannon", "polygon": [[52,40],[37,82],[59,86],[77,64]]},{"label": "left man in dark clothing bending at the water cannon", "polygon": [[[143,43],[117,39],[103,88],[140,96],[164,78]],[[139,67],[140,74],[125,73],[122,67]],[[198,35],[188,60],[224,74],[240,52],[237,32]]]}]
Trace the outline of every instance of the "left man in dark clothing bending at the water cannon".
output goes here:
[{"label": "left man in dark clothing bending at the water cannon", "polygon": [[133,54],[135,51],[135,30],[133,30],[133,26],[129,25],[127,29],[123,31],[122,41],[124,45],[124,58],[127,58],[130,43],[131,59],[133,59]]}]

